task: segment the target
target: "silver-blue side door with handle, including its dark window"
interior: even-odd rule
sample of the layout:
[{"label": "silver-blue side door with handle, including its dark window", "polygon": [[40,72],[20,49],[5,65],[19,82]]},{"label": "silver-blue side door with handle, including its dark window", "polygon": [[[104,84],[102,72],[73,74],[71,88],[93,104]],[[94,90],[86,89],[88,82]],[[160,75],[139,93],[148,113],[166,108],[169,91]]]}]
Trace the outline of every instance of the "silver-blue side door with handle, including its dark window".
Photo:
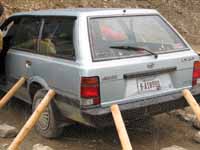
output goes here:
[{"label": "silver-blue side door with handle, including its dark window", "polygon": [[[5,68],[9,84],[13,85],[22,76],[27,78],[32,76],[31,62],[33,54],[37,51],[40,27],[40,18],[24,17],[20,20],[6,55]],[[18,96],[27,100],[27,92],[24,90],[26,89],[21,88]]]}]

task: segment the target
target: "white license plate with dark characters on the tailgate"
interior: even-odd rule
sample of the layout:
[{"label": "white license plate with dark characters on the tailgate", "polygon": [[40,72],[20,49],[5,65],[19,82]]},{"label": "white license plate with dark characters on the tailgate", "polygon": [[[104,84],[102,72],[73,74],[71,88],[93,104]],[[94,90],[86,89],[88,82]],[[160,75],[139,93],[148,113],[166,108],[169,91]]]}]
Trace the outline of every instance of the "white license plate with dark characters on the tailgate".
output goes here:
[{"label": "white license plate with dark characters on the tailgate", "polygon": [[138,79],[137,83],[139,92],[159,91],[161,89],[159,79]]}]

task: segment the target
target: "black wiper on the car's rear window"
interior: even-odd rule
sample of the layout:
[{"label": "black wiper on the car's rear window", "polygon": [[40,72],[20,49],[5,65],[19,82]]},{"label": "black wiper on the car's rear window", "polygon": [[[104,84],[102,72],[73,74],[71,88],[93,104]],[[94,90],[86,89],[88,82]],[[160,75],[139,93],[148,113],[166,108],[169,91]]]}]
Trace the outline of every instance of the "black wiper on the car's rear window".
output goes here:
[{"label": "black wiper on the car's rear window", "polygon": [[155,58],[158,58],[158,54],[148,50],[148,49],[145,49],[143,47],[135,47],[135,46],[110,46],[110,48],[114,48],[114,49],[125,49],[125,50],[142,50],[142,51],[146,51],[152,55],[154,55]]}]

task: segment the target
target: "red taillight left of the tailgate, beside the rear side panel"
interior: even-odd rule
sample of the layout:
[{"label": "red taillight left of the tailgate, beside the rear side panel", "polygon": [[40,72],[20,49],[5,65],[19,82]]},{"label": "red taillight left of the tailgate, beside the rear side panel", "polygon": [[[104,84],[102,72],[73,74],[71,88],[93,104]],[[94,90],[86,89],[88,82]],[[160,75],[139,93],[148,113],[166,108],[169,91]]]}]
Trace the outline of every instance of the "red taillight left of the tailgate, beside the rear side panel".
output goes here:
[{"label": "red taillight left of the tailgate, beside the rear side panel", "polygon": [[81,78],[81,105],[90,106],[100,104],[100,89],[98,77]]}]

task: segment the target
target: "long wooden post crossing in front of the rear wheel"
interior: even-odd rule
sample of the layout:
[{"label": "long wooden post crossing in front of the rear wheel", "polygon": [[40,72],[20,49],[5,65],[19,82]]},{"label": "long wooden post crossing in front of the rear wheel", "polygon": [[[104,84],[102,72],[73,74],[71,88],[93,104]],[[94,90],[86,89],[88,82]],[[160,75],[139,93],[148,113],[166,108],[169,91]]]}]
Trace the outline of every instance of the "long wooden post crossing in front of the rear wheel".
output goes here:
[{"label": "long wooden post crossing in front of the rear wheel", "polygon": [[47,108],[49,103],[51,102],[52,98],[55,96],[54,90],[49,90],[48,93],[45,95],[43,100],[40,102],[40,104],[37,106],[36,110],[33,112],[31,117],[28,119],[24,127],[21,129],[17,137],[14,139],[14,141],[9,146],[8,150],[16,150],[19,148],[19,145],[24,141],[26,136],[29,134],[31,129],[34,127],[34,125],[39,120],[41,114],[44,112],[44,110]]}]

